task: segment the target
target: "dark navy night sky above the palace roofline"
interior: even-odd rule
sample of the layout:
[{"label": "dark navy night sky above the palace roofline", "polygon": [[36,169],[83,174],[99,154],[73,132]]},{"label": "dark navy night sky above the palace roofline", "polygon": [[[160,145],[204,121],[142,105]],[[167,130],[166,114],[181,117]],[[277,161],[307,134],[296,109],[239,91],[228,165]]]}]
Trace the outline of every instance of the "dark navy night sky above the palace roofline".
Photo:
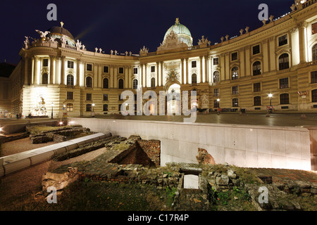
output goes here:
[{"label": "dark navy night sky above the palace roofline", "polygon": [[[56,4],[57,21],[46,19],[48,4]],[[293,0],[51,0],[1,1],[0,3],[0,62],[17,64],[18,52],[25,36],[39,38],[35,30],[64,26],[87,50],[95,47],[106,53],[132,51],[143,46],[156,51],[168,28],[180,18],[180,23],[192,33],[197,45],[201,35],[212,44],[220,37],[240,34],[263,25],[258,19],[259,4],[268,5],[268,14],[280,17],[291,11]]]}]

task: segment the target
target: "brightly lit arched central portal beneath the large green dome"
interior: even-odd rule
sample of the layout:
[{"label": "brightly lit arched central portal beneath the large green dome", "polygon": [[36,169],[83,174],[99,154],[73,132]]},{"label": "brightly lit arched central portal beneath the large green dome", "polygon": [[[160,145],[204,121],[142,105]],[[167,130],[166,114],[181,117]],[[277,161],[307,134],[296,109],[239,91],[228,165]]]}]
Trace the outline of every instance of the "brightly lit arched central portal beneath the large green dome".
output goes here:
[{"label": "brightly lit arched central portal beneath the large green dome", "polygon": [[180,84],[172,84],[166,91],[166,110],[167,113],[181,113],[181,94]]}]

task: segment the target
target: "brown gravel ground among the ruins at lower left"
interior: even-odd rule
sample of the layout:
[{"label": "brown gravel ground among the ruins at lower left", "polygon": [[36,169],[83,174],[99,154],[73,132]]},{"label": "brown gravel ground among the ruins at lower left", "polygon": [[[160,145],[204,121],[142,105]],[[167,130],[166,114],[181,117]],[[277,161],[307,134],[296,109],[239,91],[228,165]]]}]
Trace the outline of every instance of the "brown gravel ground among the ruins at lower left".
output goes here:
[{"label": "brown gravel ground among the ruins at lower left", "polygon": [[[17,141],[11,141],[1,146],[1,150],[5,155],[11,155],[14,153],[23,152],[25,150],[32,150],[43,146],[54,144],[53,141],[43,144],[32,144],[30,139],[20,139]],[[78,162],[82,160],[92,160],[98,155],[104,153],[105,148],[94,150],[85,155],[80,155],[76,158],[64,160],[62,162],[55,162],[53,160],[43,162],[39,165],[35,165],[24,169],[23,171],[8,174],[2,178],[0,184],[0,210],[7,210],[8,205],[15,204],[11,199],[18,196],[25,196],[27,194],[35,194],[41,191],[42,176],[49,170],[57,168],[61,165],[65,165],[72,162]]]}]

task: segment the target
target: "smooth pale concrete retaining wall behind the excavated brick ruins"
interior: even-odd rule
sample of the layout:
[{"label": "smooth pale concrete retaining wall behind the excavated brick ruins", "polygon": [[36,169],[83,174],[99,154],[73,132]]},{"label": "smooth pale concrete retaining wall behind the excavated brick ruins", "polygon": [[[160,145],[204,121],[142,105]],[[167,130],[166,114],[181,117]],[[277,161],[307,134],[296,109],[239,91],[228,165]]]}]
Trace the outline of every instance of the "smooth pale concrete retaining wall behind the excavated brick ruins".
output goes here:
[{"label": "smooth pale concrete retaining wall behind the excavated brick ruins", "polygon": [[197,163],[205,148],[216,163],[239,167],[311,169],[309,130],[237,124],[185,124],[139,120],[69,118],[92,131],[161,141],[161,166],[166,162]]}]

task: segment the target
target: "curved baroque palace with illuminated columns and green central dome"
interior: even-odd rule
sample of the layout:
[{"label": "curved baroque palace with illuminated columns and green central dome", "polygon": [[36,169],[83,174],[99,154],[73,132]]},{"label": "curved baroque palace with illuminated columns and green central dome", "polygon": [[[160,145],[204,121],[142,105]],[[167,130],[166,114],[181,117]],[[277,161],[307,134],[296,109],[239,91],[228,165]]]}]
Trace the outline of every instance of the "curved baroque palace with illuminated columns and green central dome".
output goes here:
[{"label": "curved baroque palace with illuminated columns and green central dome", "polygon": [[[159,91],[175,96],[195,90],[192,105],[201,110],[261,112],[273,105],[278,111],[317,112],[316,0],[295,1],[291,8],[281,18],[263,20],[256,30],[246,27],[213,45],[204,36],[193,45],[191,33],[177,19],[155,52],[144,46],[139,54],[87,51],[63,23],[37,30],[40,38],[25,37],[21,60],[8,78],[11,106],[0,105],[0,110],[41,115],[45,109],[36,109],[39,104],[46,115],[53,108],[54,117],[118,114],[125,102],[120,94],[136,94],[142,87],[158,98]],[[180,113],[178,98],[164,103]]]}]

